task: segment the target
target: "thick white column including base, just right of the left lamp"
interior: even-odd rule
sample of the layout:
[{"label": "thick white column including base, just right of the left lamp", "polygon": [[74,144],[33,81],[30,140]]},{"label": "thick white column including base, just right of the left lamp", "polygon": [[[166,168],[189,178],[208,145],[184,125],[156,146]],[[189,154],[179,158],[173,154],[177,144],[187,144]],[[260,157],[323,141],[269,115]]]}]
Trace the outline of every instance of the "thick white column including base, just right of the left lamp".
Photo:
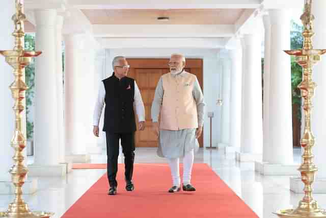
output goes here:
[{"label": "thick white column including base, just right of the left lamp", "polygon": [[66,174],[59,164],[57,101],[57,11],[36,10],[36,51],[42,55],[35,63],[35,155],[30,175]]}]

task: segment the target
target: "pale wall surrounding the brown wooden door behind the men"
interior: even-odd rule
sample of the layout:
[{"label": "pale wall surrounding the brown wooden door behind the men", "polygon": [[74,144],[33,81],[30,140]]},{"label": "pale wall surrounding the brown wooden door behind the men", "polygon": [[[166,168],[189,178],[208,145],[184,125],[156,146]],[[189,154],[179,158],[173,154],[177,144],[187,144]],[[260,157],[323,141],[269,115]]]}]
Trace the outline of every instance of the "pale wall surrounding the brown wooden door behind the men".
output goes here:
[{"label": "pale wall surrounding the brown wooden door behind the men", "polygon": [[183,53],[186,58],[203,59],[203,85],[206,112],[204,117],[204,147],[209,147],[209,118],[207,112],[214,112],[212,118],[212,146],[220,140],[221,108],[216,105],[219,87],[218,49],[106,49],[106,77],[112,75],[112,60],[115,56],[126,58],[169,58],[172,53]]}]

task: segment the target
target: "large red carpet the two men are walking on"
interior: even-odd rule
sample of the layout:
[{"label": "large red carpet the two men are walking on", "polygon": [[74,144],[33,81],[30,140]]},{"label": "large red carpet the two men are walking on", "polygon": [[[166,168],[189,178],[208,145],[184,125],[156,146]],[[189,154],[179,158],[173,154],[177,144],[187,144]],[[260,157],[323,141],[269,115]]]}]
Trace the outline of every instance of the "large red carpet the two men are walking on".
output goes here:
[{"label": "large red carpet the two men are walking on", "polygon": [[[180,172],[182,175],[182,167]],[[206,164],[194,164],[192,183],[197,189],[194,192],[167,192],[171,186],[167,164],[136,164],[132,192],[124,189],[123,176],[123,164],[119,164],[118,195],[106,195],[105,174],[62,217],[258,218]]]}]

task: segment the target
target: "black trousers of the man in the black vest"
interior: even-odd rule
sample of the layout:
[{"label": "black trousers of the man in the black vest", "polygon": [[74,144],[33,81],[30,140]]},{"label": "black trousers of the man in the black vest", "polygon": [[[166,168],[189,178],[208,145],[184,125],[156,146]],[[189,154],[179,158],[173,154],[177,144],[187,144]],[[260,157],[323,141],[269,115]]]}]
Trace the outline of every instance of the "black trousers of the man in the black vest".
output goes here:
[{"label": "black trousers of the man in the black vest", "polygon": [[117,186],[119,139],[121,139],[122,153],[125,164],[125,180],[131,181],[134,162],[134,132],[106,133],[107,179],[110,187]]}]

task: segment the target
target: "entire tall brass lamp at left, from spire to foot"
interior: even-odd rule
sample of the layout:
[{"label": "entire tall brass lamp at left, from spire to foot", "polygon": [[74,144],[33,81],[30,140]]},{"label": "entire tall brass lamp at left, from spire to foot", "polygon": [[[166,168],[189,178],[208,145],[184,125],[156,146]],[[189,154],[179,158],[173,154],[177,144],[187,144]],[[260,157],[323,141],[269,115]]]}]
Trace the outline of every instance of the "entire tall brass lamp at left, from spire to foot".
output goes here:
[{"label": "entire tall brass lamp at left, from spire to foot", "polygon": [[30,211],[28,205],[24,202],[22,195],[22,186],[25,183],[25,177],[28,173],[28,168],[23,164],[23,150],[26,147],[26,139],[24,137],[25,130],[22,128],[21,112],[25,109],[25,90],[28,89],[24,82],[25,66],[28,66],[33,57],[37,57],[41,52],[24,51],[23,37],[24,20],[26,16],[23,13],[23,6],[19,0],[16,0],[16,13],[12,16],[15,25],[13,36],[15,37],[14,49],[10,51],[0,51],[0,54],[5,57],[6,62],[13,67],[15,76],[14,82],[10,85],[14,106],[12,107],[15,113],[15,129],[14,136],[11,139],[11,147],[15,150],[13,156],[13,166],[9,169],[11,174],[12,184],[15,187],[14,202],[9,204],[6,212],[0,212],[0,217],[11,218],[48,218],[54,213],[44,211]]}]

